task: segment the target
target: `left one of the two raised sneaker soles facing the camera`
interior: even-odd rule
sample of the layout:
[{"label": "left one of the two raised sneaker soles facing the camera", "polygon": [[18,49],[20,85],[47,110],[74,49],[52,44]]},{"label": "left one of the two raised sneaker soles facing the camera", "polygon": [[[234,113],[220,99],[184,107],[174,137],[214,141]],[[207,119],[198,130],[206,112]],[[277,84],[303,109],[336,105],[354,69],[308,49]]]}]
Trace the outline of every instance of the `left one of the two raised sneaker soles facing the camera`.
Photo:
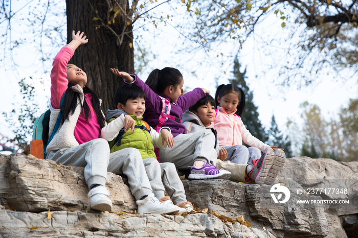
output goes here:
[{"label": "left one of the two raised sneaker soles facing the camera", "polygon": [[274,162],[274,158],[274,150],[272,148],[266,148],[263,151],[261,158],[253,160],[254,166],[249,173],[249,178],[247,178],[247,181],[249,181],[249,179],[251,178],[255,180],[255,183],[257,184],[264,183],[267,178],[267,174],[269,174],[269,171],[271,169],[271,165]]}]

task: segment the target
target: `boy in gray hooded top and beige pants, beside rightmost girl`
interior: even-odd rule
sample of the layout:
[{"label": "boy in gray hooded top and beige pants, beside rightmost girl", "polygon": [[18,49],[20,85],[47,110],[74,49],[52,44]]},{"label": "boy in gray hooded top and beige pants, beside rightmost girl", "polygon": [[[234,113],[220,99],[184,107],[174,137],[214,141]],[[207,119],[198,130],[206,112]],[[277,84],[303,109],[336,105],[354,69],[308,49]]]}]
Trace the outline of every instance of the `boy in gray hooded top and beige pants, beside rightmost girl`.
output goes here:
[{"label": "boy in gray hooded top and beige pants, beside rightmost girl", "polygon": [[[210,130],[214,133],[216,139],[215,149],[218,156],[216,167],[230,171],[231,180],[250,182],[250,179],[253,179],[257,183],[257,181],[260,181],[259,178],[266,178],[269,170],[264,170],[263,168],[267,165],[266,162],[269,161],[266,160],[267,153],[264,153],[261,158],[254,159],[252,164],[236,164],[231,161],[223,161],[227,158],[227,154],[223,148],[220,149],[219,147],[217,134],[213,128],[214,118],[215,100],[210,94],[206,93],[204,98],[200,99],[194,106],[183,113],[183,125],[187,128],[187,133],[195,133],[200,130]],[[256,165],[253,166],[253,164]]]}]

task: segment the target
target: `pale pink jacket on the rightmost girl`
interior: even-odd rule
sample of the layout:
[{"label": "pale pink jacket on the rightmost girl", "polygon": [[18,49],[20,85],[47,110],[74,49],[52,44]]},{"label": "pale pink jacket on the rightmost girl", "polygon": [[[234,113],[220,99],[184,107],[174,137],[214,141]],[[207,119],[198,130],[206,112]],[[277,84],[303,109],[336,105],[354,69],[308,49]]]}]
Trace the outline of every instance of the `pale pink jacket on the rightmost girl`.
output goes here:
[{"label": "pale pink jacket on the rightmost girl", "polygon": [[236,115],[237,109],[228,114],[222,107],[217,107],[214,119],[214,129],[217,131],[219,146],[242,145],[242,140],[246,145],[259,148],[262,152],[270,147],[254,137],[241,121],[241,117]]}]

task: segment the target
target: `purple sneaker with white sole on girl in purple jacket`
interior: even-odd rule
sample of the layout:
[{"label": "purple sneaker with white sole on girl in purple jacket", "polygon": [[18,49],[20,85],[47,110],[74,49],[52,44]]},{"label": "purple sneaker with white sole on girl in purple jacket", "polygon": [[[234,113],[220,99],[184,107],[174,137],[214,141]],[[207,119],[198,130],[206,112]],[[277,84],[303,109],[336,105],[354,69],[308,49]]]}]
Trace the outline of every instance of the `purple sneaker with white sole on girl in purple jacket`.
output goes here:
[{"label": "purple sneaker with white sole on girl in purple jacket", "polygon": [[214,165],[204,163],[203,168],[191,166],[189,179],[229,179],[231,173],[227,170],[216,169]]}]

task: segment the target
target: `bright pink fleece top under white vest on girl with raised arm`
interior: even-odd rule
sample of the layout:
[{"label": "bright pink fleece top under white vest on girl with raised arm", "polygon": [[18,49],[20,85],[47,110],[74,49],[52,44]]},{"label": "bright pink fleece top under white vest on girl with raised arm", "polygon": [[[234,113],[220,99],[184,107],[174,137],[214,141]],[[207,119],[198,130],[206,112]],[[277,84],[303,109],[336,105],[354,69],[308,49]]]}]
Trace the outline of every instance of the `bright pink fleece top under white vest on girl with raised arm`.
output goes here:
[{"label": "bright pink fleece top under white vest on girl with raised arm", "polygon": [[[50,101],[53,108],[60,108],[63,93],[69,84],[69,81],[66,79],[67,64],[74,53],[71,47],[64,46],[52,63]],[[75,131],[73,132],[78,144],[100,138],[101,128],[97,120],[96,112],[92,106],[92,95],[89,93],[85,94],[85,100],[91,110],[91,117],[89,117],[88,122],[86,122],[86,119],[83,117],[83,111],[78,117]]]}]

